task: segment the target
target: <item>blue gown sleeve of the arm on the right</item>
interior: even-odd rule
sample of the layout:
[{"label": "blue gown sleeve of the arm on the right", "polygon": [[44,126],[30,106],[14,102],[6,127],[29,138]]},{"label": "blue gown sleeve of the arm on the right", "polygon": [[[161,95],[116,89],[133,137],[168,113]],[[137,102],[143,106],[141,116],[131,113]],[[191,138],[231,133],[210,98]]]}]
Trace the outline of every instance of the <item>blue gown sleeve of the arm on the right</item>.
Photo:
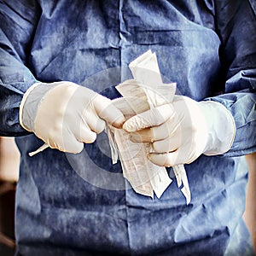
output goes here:
[{"label": "blue gown sleeve of the arm on the right", "polygon": [[224,90],[206,100],[222,103],[235,119],[236,137],[224,155],[250,154],[256,151],[256,2],[218,0],[215,11]]}]

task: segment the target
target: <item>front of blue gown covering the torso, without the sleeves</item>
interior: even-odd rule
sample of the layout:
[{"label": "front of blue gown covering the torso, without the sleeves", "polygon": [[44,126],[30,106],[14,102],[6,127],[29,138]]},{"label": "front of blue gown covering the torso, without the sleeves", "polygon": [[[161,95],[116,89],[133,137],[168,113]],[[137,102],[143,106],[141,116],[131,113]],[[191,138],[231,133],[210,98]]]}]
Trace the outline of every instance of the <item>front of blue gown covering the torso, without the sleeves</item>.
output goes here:
[{"label": "front of blue gown covering the torso, without the sleeves", "polygon": [[[221,86],[213,7],[172,2],[42,1],[29,66],[39,81],[73,81],[114,98],[113,86],[131,78],[128,64],[152,49],[163,80],[176,82],[180,94],[214,96]],[[220,255],[241,215],[236,203],[244,200],[246,180],[231,158],[201,156],[185,166],[192,194],[186,206],[172,170],[160,199],[137,195],[120,164],[112,164],[104,133],[81,154],[48,148],[30,158],[43,142],[29,136],[17,143],[20,245],[99,255]]]}]

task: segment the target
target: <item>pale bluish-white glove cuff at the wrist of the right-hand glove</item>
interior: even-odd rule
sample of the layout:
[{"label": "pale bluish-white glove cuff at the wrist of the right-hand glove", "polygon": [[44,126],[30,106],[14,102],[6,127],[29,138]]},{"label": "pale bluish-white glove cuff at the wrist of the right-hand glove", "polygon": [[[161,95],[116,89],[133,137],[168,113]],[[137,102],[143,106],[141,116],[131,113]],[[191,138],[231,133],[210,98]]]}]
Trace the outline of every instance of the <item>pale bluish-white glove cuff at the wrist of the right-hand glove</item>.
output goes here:
[{"label": "pale bluish-white glove cuff at the wrist of the right-hand glove", "polygon": [[230,150],[236,135],[235,120],[230,111],[218,102],[199,102],[208,128],[206,155],[224,154]]}]

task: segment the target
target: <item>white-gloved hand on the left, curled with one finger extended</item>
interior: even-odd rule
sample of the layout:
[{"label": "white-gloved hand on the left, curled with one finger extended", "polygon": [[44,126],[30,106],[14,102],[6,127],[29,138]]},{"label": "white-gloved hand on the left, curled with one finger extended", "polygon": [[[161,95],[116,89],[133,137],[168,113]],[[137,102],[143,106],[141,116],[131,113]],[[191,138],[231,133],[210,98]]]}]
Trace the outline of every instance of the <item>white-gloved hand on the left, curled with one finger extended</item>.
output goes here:
[{"label": "white-gloved hand on the left, curled with one finger extended", "polygon": [[72,82],[37,83],[20,103],[20,125],[50,148],[79,153],[93,143],[105,121],[119,127],[123,114],[108,98]]}]

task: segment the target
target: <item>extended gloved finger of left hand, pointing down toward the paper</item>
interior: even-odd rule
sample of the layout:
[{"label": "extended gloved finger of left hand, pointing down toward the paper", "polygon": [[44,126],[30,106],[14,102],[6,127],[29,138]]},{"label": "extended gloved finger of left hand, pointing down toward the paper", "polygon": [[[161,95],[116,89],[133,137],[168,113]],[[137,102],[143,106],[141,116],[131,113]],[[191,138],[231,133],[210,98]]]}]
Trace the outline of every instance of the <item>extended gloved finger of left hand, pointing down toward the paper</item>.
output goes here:
[{"label": "extended gloved finger of left hand, pointing down toward the paper", "polygon": [[125,117],[121,111],[116,108],[110,99],[97,94],[92,99],[92,103],[98,116],[116,128],[122,127]]}]

